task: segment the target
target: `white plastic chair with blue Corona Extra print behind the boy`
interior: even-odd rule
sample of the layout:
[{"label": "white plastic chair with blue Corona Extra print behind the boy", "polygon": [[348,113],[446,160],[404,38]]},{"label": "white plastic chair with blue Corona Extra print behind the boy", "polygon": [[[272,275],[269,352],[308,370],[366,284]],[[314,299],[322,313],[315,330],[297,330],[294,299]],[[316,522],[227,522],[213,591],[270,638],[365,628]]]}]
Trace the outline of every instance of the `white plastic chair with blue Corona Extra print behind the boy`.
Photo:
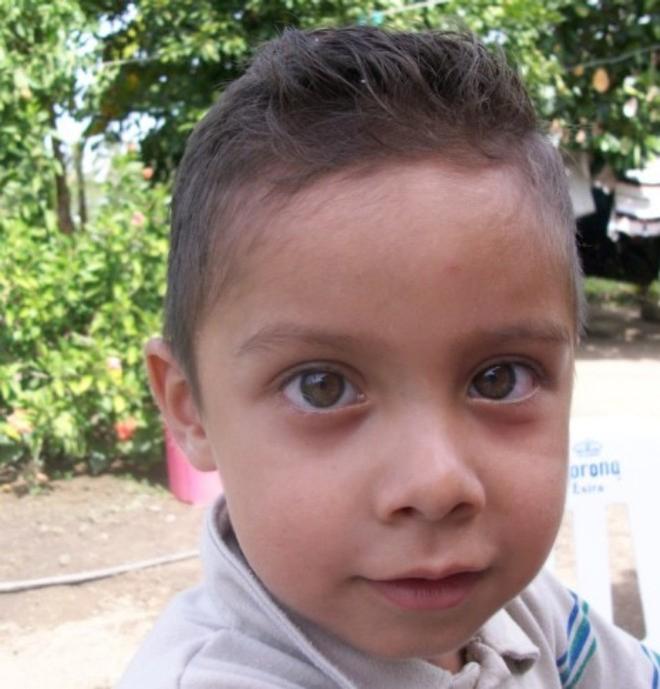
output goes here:
[{"label": "white plastic chair with blue Corona Extra print behind the boy", "polygon": [[581,417],[571,422],[567,510],[577,593],[612,620],[607,506],[630,515],[644,641],[660,648],[660,419]]}]

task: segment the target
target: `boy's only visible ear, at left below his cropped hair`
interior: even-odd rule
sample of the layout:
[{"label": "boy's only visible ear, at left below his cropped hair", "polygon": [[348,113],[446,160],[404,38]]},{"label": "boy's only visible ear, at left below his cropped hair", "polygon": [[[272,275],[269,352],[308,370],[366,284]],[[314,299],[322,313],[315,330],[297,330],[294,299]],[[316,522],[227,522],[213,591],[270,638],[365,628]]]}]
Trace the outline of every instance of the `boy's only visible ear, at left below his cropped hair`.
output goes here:
[{"label": "boy's only visible ear, at left below his cropped hair", "polygon": [[160,408],[168,430],[191,464],[201,471],[214,470],[215,463],[192,386],[160,337],[144,348],[151,393]]}]

